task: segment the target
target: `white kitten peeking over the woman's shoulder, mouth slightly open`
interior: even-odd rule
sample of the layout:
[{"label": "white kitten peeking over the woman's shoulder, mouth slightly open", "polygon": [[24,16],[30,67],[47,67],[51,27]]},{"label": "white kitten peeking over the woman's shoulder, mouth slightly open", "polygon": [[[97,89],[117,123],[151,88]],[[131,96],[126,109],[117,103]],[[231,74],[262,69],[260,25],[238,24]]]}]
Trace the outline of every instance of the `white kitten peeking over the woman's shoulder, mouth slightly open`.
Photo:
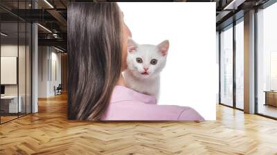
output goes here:
[{"label": "white kitten peeking over the woman's shoulder, mouth slightly open", "polygon": [[169,42],[137,44],[128,39],[127,69],[123,76],[127,87],[159,98],[160,73],[166,66]]}]

